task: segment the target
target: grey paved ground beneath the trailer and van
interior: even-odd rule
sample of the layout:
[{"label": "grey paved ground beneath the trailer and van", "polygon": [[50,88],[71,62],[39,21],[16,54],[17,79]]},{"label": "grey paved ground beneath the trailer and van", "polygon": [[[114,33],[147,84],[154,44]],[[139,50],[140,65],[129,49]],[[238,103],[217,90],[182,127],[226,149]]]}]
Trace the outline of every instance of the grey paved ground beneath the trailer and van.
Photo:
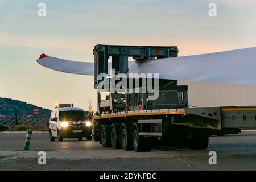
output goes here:
[{"label": "grey paved ground beneath the trailer and van", "polygon": [[[64,139],[50,142],[48,133],[33,133],[30,151],[22,151],[26,133],[0,133],[2,170],[255,170],[256,133],[210,137],[207,150],[154,148],[134,152],[103,148],[98,142]],[[47,164],[38,164],[38,151],[46,151]],[[209,151],[217,152],[217,165],[209,165]]]}]

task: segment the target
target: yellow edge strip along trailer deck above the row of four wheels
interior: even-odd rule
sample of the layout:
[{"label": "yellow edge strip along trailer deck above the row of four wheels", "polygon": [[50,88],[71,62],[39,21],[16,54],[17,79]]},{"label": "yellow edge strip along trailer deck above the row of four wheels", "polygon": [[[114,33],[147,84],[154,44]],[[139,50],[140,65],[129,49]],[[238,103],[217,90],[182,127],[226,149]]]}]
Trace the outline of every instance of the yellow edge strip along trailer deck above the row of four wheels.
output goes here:
[{"label": "yellow edge strip along trailer deck above the row of four wheels", "polygon": [[104,115],[93,117],[93,119],[105,119],[105,118],[116,118],[116,117],[127,117],[127,116],[138,116],[138,115],[170,115],[170,114],[185,114],[185,111],[167,111],[167,112],[154,112],[154,113],[127,113],[117,115]]}]

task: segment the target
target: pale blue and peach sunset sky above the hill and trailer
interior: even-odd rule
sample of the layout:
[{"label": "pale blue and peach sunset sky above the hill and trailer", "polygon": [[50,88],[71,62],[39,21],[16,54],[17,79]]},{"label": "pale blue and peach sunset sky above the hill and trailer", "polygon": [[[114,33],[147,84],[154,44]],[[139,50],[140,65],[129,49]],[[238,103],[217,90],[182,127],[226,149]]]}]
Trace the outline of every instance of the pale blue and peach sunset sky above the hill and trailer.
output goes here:
[{"label": "pale blue and peach sunset sky above the hill and trailer", "polygon": [[48,109],[73,102],[87,110],[91,100],[96,110],[93,76],[44,68],[39,55],[93,62],[96,44],[177,46],[179,56],[255,47],[255,8],[253,0],[0,0],[0,97]]}]

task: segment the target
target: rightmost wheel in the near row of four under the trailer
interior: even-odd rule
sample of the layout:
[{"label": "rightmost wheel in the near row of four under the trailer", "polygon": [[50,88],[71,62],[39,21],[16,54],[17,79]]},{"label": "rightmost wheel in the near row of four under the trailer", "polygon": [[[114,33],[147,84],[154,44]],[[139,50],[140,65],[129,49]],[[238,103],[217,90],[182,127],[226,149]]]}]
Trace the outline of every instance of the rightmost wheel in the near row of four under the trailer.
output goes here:
[{"label": "rightmost wheel in the near row of four under the trailer", "polygon": [[133,149],[135,152],[146,152],[152,150],[151,138],[140,138],[138,131],[133,131]]}]

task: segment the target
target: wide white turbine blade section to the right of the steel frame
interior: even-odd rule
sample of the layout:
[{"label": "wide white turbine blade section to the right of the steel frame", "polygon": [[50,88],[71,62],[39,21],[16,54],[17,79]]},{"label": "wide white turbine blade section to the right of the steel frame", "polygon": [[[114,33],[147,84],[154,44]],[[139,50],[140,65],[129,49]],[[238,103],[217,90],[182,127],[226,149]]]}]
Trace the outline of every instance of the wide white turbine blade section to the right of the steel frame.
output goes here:
[{"label": "wide white turbine blade section to the right of the steel frame", "polygon": [[159,73],[162,79],[256,86],[256,47],[155,59],[130,65],[129,73]]}]

